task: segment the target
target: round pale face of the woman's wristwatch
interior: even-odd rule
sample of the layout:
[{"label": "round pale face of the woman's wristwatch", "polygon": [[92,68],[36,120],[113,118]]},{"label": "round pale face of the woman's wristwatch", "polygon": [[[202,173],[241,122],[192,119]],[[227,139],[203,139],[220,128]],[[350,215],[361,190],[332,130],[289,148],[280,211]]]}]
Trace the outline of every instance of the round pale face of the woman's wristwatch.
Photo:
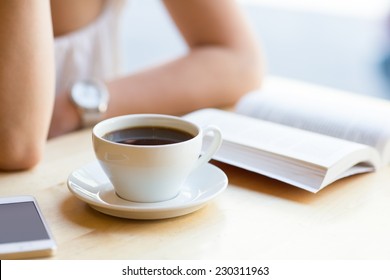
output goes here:
[{"label": "round pale face of the woman's wristwatch", "polygon": [[98,108],[101,102],[101,91],[92,83],[80,82],[72,89],[73,100],[85,109]]}]

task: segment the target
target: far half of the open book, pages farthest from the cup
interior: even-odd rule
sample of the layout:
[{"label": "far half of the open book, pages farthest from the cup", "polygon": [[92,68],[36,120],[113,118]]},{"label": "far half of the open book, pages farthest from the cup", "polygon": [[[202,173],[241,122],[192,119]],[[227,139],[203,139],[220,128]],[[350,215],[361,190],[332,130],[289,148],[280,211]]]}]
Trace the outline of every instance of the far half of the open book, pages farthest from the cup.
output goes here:
[{"label": "far half of the open book, pages farthest from the cup", "polygon": [[239,114],[366,144],[390,161],[390,102],[321,87],[300,92],[255,91],[236,107]]}]

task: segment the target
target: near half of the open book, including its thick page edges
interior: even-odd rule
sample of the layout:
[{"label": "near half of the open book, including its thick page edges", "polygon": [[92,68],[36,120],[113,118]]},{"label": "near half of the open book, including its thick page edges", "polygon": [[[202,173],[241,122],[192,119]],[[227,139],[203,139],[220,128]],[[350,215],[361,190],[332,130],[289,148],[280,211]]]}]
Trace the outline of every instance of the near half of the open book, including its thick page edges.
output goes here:
[{"label": "near half of the open book, including its thick page edges", "polygon": [[[379,166],[377,151],[368,145],[234,112],[203,109],[184,118],[201,127],[215,125],[221,129],[223,143],[214,159],[311,192],[337,178]],[[206,135],[203,149],[210,142],[211,135]]]}]

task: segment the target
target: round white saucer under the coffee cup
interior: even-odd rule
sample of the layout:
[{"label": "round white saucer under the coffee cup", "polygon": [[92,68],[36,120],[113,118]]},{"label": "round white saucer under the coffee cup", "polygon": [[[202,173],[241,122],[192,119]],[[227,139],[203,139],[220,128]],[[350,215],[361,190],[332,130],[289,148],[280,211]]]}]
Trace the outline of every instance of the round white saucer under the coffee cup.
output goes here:
[{"label": "round white saucer under the coffee cup", "polygon": [[74,170],[68,178],[69,190],[102,213],[128,219],[165,219],[194,212],[222,193],[226,174],[206,164],[189,176],[182,191],[173,199],[156,203],[137,203],[116,195],[99,163],[92,162]]}]

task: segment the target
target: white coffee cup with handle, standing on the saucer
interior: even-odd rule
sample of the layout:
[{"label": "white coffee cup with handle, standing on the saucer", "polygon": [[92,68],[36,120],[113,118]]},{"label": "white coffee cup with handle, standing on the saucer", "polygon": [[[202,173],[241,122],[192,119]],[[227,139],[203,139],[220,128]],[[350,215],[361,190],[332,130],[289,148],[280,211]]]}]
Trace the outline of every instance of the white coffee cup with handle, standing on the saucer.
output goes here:
[{"label": "white coffee cup with handle, standing on the saucer", "polygon": [[[112,132],[139,127],[158,127],[189,133],[190,139],[159,145],[117,143]],[[213,140],[201,154],[203,139],[212,133]],[[158,114],[133,114],[98,123],[92,131],[95,155],[123,199],[135,202],[158,202],[174,198],[196,168],[207,163],[217,152],[222,136],[218,128],[204,129],[180,117]]]}]

